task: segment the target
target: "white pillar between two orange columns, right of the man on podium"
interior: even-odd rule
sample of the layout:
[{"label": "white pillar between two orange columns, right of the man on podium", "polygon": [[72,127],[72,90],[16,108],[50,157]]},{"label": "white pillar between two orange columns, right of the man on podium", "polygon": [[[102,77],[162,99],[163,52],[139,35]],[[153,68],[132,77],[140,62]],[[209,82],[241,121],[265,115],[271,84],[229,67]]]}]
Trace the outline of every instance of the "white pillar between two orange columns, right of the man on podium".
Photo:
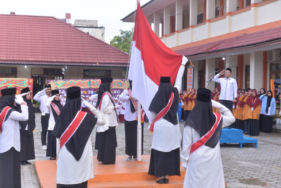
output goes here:
[{"label": "white pillar between two orange columns, right of the man on podium", "polygon": [[250,52],[250,88],[259,90],[263,84],[263,52]]}]

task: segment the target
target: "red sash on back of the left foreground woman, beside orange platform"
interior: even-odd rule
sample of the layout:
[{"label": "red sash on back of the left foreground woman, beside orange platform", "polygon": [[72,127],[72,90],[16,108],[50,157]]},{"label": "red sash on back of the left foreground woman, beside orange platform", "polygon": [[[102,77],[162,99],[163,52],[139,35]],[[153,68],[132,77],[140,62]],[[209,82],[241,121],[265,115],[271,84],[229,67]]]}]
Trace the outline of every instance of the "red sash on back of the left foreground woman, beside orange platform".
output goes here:
[{"label": "red sash on back of the left foreground woman, beside orange platform", "polygon": [[80,126],[86,115],[87,115],[86,112],[78,111],[75,118],[68,125],[68,128],[65,129],[65,131],[60,137],[60,142],[61,142],[60,150],[68,142],[68,140],[72,137],[72,135],[76,132],[76,130],[78,129],[78,127]]}]

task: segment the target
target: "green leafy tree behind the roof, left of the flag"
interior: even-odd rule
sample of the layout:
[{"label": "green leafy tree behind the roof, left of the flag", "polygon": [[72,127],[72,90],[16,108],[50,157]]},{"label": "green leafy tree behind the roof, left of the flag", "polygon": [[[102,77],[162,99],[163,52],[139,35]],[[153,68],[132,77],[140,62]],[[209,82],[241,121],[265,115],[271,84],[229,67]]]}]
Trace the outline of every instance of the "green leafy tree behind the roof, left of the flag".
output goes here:
[{"label": "green leafy tree behind the roof, left of the flag", "polygon": [[123,31],[122,29],[120,29],[119,31],[120,35],[115,35],[113,39],[111,39],[110,44],[129,54],[131,41],[133,41],[133,28],[128,31]]}]

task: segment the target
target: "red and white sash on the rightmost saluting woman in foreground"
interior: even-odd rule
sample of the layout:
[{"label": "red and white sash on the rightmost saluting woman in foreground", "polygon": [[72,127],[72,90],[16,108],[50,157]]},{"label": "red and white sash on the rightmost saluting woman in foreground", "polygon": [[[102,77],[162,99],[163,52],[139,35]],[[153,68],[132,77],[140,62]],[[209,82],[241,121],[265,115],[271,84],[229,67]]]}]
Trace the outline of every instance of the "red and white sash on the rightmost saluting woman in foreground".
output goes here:
[{"label": "red and white sash on the rightmost saluting woman in foreground", "polygon": [[215,132],[215,130],[218,127],[218,124],[222,118],[222,115],[220,113],[214,113],[216,116],[216,122],[213,125],[213,127],[211,128],[211,130],[208,131],[208,133],[206,133],[203,137],[201,137],[199,140],[193,142],[193,144],[191,145],[191,149],[189,152],[189,155],[193,154],[194,152],[196,152],[199,148],[201,148],[201,146],[203,146],[204,144],[206,144],[206,142],[211,138],[211,136],[213,135],[213,133]]}]

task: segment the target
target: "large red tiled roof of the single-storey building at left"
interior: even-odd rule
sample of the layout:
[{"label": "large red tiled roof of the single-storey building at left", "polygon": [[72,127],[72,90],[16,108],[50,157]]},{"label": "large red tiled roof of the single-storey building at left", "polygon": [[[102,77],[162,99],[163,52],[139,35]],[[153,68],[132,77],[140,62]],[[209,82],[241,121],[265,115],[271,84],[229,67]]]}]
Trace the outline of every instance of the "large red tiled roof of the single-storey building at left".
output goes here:
[{"label": "large red tiled roof of the single-storey building at left", "polygon": [[0,14],[0,63],[127,66],[128,58],[57,18]]}]

